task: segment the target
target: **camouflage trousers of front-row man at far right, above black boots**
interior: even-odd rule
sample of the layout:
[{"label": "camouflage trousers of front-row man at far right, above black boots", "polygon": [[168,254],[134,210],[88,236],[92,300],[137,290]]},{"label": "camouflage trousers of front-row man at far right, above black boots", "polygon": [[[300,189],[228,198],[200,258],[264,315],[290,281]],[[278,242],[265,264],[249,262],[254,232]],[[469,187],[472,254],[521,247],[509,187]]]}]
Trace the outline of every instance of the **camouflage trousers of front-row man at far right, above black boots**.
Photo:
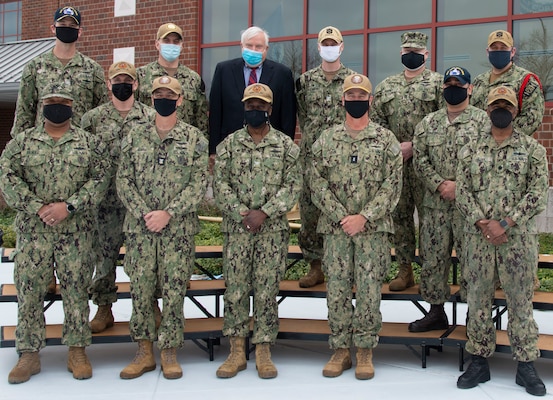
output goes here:
[{"label": "camouflage trousers of front-row man at far right, above black boots", "polygon": [[534,320],[532,297],[538,263],[537,235],[509,236],[508,243],[493,246],[480,234],[465,237],[463,269],[467,282],[468,342],[466,350],[490,357],[495,351],[492,299],[499,278],[509,309],[507,333],[517,361],[528,362],[540,356],[538,325]]}]

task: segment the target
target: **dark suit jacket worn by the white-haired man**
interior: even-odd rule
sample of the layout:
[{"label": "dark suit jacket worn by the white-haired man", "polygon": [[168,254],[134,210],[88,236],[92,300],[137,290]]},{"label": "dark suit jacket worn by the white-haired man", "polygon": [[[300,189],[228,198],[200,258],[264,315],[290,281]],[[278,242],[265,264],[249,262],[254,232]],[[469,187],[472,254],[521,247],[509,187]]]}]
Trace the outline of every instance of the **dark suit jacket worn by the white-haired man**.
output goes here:
[{"label": "dark suit jacket worn by the white-haired man", "polygon": [[[271,125],[292,139],[296,132],[296,95],[290,68],[271,60],[263,62],[259,83],[273,91]],[[209,94],[209,154],[229,134],[244,126],[244,60],[235,58],[215,67]]]}]

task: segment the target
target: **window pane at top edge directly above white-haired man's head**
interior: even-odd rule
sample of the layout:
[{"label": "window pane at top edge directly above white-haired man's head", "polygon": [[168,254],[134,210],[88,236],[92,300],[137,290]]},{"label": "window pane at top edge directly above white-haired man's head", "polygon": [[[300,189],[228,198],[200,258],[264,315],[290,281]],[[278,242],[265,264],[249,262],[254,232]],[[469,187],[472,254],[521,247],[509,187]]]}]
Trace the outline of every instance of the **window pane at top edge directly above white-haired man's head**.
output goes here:
[{"label": "window pane at top edge directly above white-haired man's head", "polygon": [[298,0],[256,0],[253,23],[265,29],[270,37],[301,35],[303,2]]}]

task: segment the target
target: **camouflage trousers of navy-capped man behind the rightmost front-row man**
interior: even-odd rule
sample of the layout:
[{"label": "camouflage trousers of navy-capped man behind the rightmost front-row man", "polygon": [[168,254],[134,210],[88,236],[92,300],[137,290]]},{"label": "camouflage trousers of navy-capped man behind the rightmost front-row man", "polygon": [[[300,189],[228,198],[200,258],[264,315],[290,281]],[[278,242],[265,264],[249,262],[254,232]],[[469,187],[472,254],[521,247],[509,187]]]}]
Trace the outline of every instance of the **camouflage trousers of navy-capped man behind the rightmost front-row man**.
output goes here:
[{"label": "camouflage trousers of navy-capped man behind the rightmost front-row man", "polygon": [[[451,251],[455,248],[462,271],[462,240],[464,218],[455,208],[455,203],[447,209],[425,208],[424,221],[420,229],[421,295],[430,304],[444,304],[449,300],[448,284],[451,270]],[[461,275],[462,276],[462,275]],[[465,284],[461,279],[463,297]]]}]

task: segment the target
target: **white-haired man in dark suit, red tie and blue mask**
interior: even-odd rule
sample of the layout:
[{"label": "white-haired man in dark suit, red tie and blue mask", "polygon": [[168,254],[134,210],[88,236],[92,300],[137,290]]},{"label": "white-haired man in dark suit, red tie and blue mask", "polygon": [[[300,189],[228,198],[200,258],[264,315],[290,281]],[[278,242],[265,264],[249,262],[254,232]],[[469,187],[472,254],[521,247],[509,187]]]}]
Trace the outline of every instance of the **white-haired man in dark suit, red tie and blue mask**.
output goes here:
[{"label": "white-haired man in dark suit, red tie and blue mask", "polygon": [[292,139],[296,131],[296,96],[290,68],[267,60],[269,35],[256,26],[241,37],[242,57],[217,64],[209,96],[209,154],[232,132],[244,126],[244,89],[264,83],[273,91],[271,126]]}]

